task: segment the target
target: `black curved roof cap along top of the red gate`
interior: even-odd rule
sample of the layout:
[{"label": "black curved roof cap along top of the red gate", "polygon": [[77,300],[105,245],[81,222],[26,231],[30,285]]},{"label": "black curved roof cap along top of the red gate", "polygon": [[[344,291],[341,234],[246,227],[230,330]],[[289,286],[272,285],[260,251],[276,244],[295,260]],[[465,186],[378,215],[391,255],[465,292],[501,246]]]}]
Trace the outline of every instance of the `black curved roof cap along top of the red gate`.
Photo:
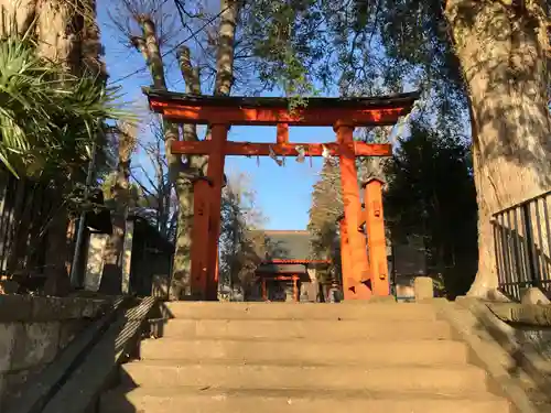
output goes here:
[{"label": "black curved roof cap along top of the red gate", "polygon": [[[172,102],[182,106],[227,107],[227,108],[289,108],[292,98],[245,97],[245,96],[204,96],[175,91],[142,88],[149,100]],[[420,93],[395,94],[372,97],[304,97],[307,109],[382,109],[412,107]]]}]

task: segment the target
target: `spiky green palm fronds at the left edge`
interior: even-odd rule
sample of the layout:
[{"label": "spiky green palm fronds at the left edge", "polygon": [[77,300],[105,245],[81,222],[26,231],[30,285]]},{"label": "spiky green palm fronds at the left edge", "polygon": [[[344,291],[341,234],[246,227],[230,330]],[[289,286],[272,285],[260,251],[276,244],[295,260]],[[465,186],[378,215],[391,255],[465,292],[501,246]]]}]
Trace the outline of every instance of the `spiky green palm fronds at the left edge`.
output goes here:
[{"label": "spiky green palm fronds at the left edge", "polygon": [[105,120],[131,117],[117,90],[39,57],[29,39],[0,40],[0,161],[15,175],[82,176]]}]

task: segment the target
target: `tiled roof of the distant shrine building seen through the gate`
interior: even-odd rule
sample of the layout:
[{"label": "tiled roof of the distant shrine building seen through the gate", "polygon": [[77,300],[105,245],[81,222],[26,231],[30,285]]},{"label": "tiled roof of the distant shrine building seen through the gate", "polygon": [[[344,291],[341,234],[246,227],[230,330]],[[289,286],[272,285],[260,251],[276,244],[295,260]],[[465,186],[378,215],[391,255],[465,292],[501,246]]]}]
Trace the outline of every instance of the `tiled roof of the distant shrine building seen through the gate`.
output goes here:
[{"label": "tiled roof of the distant shrine building seen through the gate", "polygon": [[263,235],[264,261],[307,260],[310,232],[300,230],[259,230]]}]

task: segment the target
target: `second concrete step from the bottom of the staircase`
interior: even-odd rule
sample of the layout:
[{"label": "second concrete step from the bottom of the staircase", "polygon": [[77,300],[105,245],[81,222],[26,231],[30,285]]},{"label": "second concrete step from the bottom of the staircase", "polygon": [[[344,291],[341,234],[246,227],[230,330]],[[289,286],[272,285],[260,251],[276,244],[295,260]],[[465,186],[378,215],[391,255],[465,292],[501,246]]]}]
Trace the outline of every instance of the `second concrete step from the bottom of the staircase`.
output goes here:
[{"label": "second concrete step from the bottom of the staircase", "polygon": [[461,367],[352,367],[301,365],[186,363],[141,360],[122,367],[123,382],[137,387],[187,385],[227,389],[328,389],[424,391],[461,394],[486,390],[486,373]]}]

